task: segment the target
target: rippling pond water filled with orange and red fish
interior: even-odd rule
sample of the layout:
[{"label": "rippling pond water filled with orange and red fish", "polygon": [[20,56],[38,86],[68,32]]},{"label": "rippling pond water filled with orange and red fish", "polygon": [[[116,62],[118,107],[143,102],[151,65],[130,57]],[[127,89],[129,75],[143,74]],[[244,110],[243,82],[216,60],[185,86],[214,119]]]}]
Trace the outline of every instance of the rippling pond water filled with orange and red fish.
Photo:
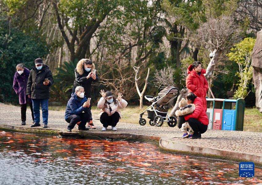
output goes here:
[{"label": "rippling pond water filled with orange and red fish", "polygon": [[255,184],[238,163],[161,152],[144,142],[0,131],[0,184]]}]

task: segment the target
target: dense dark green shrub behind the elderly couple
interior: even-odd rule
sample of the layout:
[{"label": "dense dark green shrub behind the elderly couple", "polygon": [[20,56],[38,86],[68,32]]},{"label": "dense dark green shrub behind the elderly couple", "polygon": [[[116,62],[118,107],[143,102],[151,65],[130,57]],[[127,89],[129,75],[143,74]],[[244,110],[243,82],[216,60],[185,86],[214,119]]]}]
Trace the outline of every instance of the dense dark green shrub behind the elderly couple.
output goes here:
[{"label": "dense dark green shrub behind the elderly couple", "polygon": [[48,47],[39,37],[30,37],[12,28],[9,22],[0,17],[0,101],[18,103],[13,90],[13,78],[18,63],[25,64],[29,70],[35,65],[35,58],[45,57]]}]

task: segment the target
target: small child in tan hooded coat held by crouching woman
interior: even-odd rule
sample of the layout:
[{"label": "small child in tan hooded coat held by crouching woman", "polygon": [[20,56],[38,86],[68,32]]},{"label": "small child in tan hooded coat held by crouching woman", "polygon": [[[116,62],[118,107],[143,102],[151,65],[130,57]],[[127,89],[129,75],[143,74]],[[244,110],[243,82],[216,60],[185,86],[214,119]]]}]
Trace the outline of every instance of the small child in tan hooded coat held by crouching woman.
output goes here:
[{"label": "small child in tan hooded coat held by crouching woman", "polygon": [[[176,116],[178,116],[178,128],[181,128],[183,132],[182,138],[191,138],[194,134],[193,129],[189,126],[188,122],[185,121],[184,116],[191,114],[195,110],[194,104],[187,104],[185,98],[178,103],[178,107],[180,108],[175,112]],[[189,134],[187,133],[189,132]]]}]

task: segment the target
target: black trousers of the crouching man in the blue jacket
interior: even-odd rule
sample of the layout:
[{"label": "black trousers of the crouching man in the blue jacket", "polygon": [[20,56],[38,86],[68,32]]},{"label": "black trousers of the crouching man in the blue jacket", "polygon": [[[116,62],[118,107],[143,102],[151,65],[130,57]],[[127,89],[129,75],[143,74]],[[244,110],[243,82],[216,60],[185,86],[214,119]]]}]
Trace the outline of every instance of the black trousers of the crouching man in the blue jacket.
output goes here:
[{"label": "black trousers of the crouching man in the blue jacket", "polygon": [[80,122],[78,128],[80,130],[84,130],[85,129],[85,125],[89,120],[89,114],[88,112],[82,112],[81,114],[79,115],[76,115],[76,114],[73,114],[73,115],[70,115],[68,116],[68,118],[66,119],[66,122],[69,123],[68,125],[68,129],[73,129],[76,125],[76,123]]}]

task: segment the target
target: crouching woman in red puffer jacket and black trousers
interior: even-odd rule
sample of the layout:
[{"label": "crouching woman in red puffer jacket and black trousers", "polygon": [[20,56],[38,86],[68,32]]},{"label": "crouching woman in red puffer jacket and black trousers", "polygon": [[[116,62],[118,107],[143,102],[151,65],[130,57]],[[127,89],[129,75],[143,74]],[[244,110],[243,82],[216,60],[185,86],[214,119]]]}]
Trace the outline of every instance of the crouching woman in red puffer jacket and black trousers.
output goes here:
[{"label": "crouching woman in red puffer jacket and black trousers", "polygon": [[194,95],[194,93],[188,93],[186,95],[186,101],[188,104],[195,104],[194,112],[184,117],[194,131],[192,139],[201,138],[201,134],[207,131],[207,125],[209,123],[202,100]]}]

